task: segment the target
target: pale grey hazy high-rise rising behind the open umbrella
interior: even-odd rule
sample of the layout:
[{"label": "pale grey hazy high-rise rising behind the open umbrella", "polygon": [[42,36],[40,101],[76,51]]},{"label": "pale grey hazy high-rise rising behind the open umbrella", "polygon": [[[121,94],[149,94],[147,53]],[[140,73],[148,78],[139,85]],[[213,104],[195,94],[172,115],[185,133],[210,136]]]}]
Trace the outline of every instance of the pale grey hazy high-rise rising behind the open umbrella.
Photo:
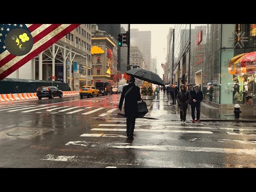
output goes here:
[{"label": "pale grey hazy high-rise rising behind the open umbrella", "polygon": [[151,70],[151,31],[139,31],[131,29],[131,46],[139,47],[143,59],[145,60],[146,70]]}]

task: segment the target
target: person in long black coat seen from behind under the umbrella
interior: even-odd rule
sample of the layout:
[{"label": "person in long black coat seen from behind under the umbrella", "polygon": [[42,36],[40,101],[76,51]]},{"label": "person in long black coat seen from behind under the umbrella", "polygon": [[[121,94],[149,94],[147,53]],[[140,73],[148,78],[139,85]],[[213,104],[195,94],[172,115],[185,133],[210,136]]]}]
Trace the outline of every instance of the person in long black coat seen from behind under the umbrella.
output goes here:
[{"label": "person in long black coat seen from behind under the umbrella", "polygon": [[[126,134],[128,139],[133,139],[133,132],[135,126],[135,118],[138,112],[138,101],[141,100],[140,87],[136,86],[135,78],[132,76],[130,78],[129,85],[123,87],[123,92],[119,102],[119,110],[122,111],[122,106],[124,102],[124,114],[126,118]],[[127,93],[126,93],[127,92]]]}]

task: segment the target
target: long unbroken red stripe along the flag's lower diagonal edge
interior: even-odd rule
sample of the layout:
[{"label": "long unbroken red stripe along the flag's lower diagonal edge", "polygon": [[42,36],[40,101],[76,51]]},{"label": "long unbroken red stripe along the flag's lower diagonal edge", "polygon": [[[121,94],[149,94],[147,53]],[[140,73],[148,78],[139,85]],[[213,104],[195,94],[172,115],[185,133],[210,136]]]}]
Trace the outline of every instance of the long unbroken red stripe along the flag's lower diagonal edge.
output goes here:
[{"label": "long unbroken red stripe along the flag's lower diagonal edge", "polygon": [[[19,60],[17,63],[10,63],[12,66],[8,69],[6,69],[3,73],[1,73],[0,71],[0,80],[4,79],[5,77],[7,77],[8,75],[10,75],[11,73],[13,73],[13,71],[17,70],[18,68],[20,68],[21,66],[23,66],[26,62],[28,62],[29,60],[31,60],[32,58],[34,58],[36,55],[38,55],[39,53],[41,53],[42,51],[44,51],[45,49],[47,49],[47,47],[51,46],[53,43],[59,41],[59,39],[61,39],[63,36],[65,36],[66,34],[68,34],[70,31],[74,30],[75,28],[77,28],[79,25],[81,24],[71,24],[68,27],[66,27],[65,24],[61,25],[59,27],[58,30],[61,30],[60,33],[58,33],[57,35],[55,35],[54,37],[52,37],[51,39],[49,39],[49,41],[45,42],[44,44],[42,44],[41,46],[39,46],[37,49],[35,49],[34,51],[32,51],[31,53],[29,53],[28,55],[25,56],[25,58]],[[57,29],[56,29],[57,30]],[[56,33],[56,31],[54,30],[54,34]],[[52,33],[50,33],[52,34]],[[45,37],[44,37],[45,38]],[[49,37],[48,37],[49,38]],[[39,42],[41,43],[41,42]]]}]

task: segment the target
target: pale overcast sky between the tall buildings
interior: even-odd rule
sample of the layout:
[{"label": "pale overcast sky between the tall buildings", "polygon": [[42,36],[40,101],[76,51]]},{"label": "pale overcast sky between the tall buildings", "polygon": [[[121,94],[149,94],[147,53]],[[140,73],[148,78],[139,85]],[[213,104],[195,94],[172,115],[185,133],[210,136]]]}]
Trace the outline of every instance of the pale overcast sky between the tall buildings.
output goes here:
[{"label": "pale overcast sky between the tall buildings", "polygon": [[162,78],[161,63],[165,62],[167,49],[167,34],[173,24],[131,24],[131,29],[151,31],[151,58],[157,58],[157,74]]}]

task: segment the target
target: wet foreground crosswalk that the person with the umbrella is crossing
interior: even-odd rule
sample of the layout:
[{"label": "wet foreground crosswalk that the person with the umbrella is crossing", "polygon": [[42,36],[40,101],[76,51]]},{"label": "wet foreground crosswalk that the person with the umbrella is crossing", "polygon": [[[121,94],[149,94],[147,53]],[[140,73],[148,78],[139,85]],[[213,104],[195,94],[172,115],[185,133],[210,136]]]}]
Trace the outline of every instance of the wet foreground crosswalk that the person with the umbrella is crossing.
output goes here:
[{"label": "wet foreground crosswalk that the person with the umbrella is crossing", "polygon": [[[181,125],[179,121],[138,118],[134,140],[128,140],[125,118],[113,116],[104,123],[94,124],[88,132],[63,146],[85,149],[90,155],[45,154],[41,160],[85,166],[96,164],[98,167],[256,167],[256,126],[253,124],[236,123],[234,126],[230,122],[202,122]],[[97,155],[104,151],[108,154]],[[237,161],[243,158],[247,161]],[[223,163],[223,159],[227,162]]]}]

